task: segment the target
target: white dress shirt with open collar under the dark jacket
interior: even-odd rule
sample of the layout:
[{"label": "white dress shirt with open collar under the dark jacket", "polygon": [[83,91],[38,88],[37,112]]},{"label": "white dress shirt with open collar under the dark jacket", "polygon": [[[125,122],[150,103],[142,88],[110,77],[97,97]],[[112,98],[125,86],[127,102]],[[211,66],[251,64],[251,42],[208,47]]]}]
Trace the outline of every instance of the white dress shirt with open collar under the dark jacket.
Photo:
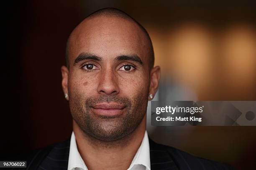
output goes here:
[{"label": "white dress shirt with open collar under the dark jacket", "polygon": [[[88,170],[77,150],[74,132],[72,132],[70,140],[68,170]],[[138,148],[128,170],[150,170],[150,150],[147,131],[145,131],[141,146]]]}]

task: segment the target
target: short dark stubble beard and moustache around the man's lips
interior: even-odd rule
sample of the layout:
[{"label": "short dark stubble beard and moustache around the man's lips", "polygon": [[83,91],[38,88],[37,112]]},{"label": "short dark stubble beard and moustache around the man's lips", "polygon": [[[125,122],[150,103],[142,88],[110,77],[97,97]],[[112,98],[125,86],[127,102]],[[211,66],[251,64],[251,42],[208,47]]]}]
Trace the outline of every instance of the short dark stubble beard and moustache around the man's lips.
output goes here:
[{"label": "short dark stubble beard and moustache around the man's lips", "polygon": [[[147,109],[147,100],[142,93],[133,97],[116,95],[84,98],[78,94],[69,100],[72,117],[79,128],[91,138],[110,142],[131,134],[141,123]],[[123,113],[117,117],[100,116],[92,112],[91,106],[101,102],[116,102],[125,105]]]}]

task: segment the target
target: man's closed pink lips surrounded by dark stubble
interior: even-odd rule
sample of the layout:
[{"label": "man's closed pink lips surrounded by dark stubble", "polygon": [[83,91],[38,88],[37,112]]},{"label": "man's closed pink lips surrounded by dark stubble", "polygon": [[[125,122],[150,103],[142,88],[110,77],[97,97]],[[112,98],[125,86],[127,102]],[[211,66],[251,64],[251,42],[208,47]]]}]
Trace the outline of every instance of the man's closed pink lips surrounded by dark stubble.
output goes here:
[{"label": "man's closed pink lips surrounded by dark stubble", "polygon": [[118,103],[100,103],[91,106],[91,108],[97,115],[116,117],[122,114],[125,105],[120,105]]}]

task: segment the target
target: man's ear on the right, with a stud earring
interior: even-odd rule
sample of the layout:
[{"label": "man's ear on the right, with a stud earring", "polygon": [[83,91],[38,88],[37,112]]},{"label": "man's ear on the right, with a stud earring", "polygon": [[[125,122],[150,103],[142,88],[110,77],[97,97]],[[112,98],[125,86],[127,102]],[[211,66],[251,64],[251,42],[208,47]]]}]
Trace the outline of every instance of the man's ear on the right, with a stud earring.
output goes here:
[{"label": "man's ear on the right, with a stud earring", "polygon": [[149,87],[149,96],[148,100],[152,100],[156,94],[157,88],[160,82],[160,67],[156,66],[152,68],[150,72],[150,87]]}]

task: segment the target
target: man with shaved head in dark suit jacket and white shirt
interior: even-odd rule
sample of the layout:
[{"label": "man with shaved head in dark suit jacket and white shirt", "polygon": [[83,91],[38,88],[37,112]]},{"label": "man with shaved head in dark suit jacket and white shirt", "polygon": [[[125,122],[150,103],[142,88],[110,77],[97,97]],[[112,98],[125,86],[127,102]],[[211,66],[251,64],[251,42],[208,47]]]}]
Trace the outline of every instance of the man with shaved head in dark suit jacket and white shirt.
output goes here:
[{"label": "man with shaved head in dark suit jacket and white shirt", "polygon": [[66,59],[62,87],[73,133],[35,151],[27,169],[229,169],[148,138],[147,103],[159,86],[160,67],[154,67],[148,33],[130,16],[114,8],[89,15],[70,34]]}]

